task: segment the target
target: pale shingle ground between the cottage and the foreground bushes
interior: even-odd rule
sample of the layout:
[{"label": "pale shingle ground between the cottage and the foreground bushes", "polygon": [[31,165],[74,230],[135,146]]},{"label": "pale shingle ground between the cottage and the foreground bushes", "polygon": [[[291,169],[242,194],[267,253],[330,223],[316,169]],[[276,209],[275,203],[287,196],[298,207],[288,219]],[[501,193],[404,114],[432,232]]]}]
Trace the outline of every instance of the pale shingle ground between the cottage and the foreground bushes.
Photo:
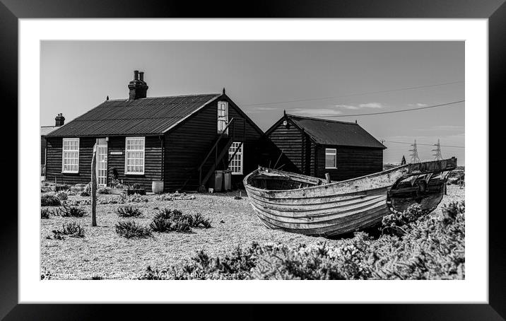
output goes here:
[{"label": "pale shingle ground between the cottage and the foreground bushes", "polygon": [[[104,277],[110,279],[130,279],[143,274],[148,265],[166,267],[177,264],[202,249],[209,255],[220,255],[234,250],[237,245],[249,245],[252,241],[259,244],[279,242],[310,245],[326,240],[265,228],[254,215],[245,192],[242,192],[242,199],[234,199],[237,194],[195,194],[196,199],[175,201],[157,201],[154,195],[148,195],[149,202],[129,204],[143,211],[144,216],[133,219],[146,226],[158,209],[164,207],[179,209],[185,214],[200,212],[205,218],[211,218],[212,228],[193,228],[194,233],[153,233],[152,238],[122,238],[114,230],[114,224],[119,221],[116,213],[117,207],[121,206],[119,204],[98,204],[97,227],[91,226],[89,205],[82,206],[88,211],[88,216],[83,218],[51,216],[40,220],[41,274],[49,272],[53,274],[53,279],[90,279],[97,274],[105,274]],[[102,197],[108,196],[99,195],[99,201]],[[83,199],[86,197],[69,197],[69,201]],[[440,206],[463,199],[464,189],[448,186],[448,195]],[[86,228],[85,238],[46,238],[54,228],[71,221]]]}]

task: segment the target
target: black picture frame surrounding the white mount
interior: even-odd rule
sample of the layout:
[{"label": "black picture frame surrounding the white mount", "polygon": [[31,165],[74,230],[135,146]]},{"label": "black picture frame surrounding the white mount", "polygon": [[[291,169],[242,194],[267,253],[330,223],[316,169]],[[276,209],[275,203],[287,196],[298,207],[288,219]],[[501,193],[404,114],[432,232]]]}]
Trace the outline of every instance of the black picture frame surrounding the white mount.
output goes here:
[{"label": "black picture frame surrounding the white mount", "polygon": [[[327,0],[327,1],[256,1],[238,3],[207,1],[133,1],[133,0],[0,0],[0,91],[3,112],[17,119],[18,108],[18,19],[20,18],[487,18],[489,23],[489,106],[504,103],[506,77],[506,4],[504,0]],[[492,108],[488,109],[489,115]],[[6,119],[4,117],[4,119]],[[493,119],[493,118],[491,118]],[[5,120],[4,120],[5,122]],[[490,128],[490,127],[489,127]],[[7,129],[4,129],[7,130]],[[493,138],[490,132],[490,138]],[[500,134],[498,134],[500,136]],[[489,146],[493,146],[490,145]],[[20,146],[18,145],[18,148]],[[17,156],[16,156],[17,157]],[[500,157],[498,158],[500,159]],[[489,168],[498,162],[490,158]],[[18,163],[18,162],[16,162]],[[486,164],[483,164],[486,165]],[[18,168],[18,170],[21,170]],[[16,182],[14,180],[11,182]],[[13,183],[10,184],[11,186]],[[17,185],[16,185],[17,186]],[[488,188],[497,199],[500,189]],[[17,188],[16,188],[17,190]],[[491,204],[490,204],[491,205]],[[491,209],[491,207],[490,207]],[[488,213],[482,213],[486,215]],[[283,319],[324,314],[359,316],[372,320],[505,320],[506,316],[506,245],[502,232],[502,213],[489,215],[489,303],[488,304],[367,304],[326,305],[326,311],[307,305],[283,306]],[[71,320],[107,317],[149,317],[151,313],[172,314],[175,307],[165,305],[28,305],[18,304],[18,219],[11,213],[2,216],[0,233],[0,317],[5,320]],[[387,281],[386,281],[387,282]],[[385,286],[388,286],[385,284]],[[169,287],[167,286],[167,289]],[[76,288],[78,291],[78,288]],[[336,289],[339,291],[339,289]],[[380,295],[380,293],[378,293]],[[235,305],[234,313],[223,307],[181,307],[191,318],[211,315],[225,318],[258,319],[265,314],[259,305]],[[226,309],[230,311],[229,308]],[[237,315],[237,313],[240,313]],[[154,314],[153,314],[154,317]]]}]

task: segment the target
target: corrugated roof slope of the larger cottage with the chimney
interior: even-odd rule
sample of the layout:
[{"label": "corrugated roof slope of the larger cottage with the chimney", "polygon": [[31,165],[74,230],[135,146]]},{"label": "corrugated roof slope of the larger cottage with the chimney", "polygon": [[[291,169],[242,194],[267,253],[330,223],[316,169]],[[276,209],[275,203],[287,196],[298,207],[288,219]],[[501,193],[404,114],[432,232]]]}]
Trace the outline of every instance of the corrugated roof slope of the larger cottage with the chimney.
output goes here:
[{"label": "corrugated roof slope of the larger cottage with the chimney", "polygon": [[221,94],[106,100],[47,136],[162,134]]}]

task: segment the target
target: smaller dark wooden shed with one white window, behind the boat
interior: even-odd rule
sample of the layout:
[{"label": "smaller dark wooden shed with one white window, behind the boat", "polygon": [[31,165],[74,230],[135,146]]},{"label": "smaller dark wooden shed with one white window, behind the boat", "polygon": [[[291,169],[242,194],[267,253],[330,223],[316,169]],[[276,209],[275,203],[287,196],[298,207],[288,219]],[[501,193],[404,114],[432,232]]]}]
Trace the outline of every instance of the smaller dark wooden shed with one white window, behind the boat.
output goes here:
[{"label": "smaller dark wooden shed with one white window, behind the boat", "polygon": [[285,114],[266,136],[305,175],[348,180],[382,171],[386,147],[356,122]]}]

